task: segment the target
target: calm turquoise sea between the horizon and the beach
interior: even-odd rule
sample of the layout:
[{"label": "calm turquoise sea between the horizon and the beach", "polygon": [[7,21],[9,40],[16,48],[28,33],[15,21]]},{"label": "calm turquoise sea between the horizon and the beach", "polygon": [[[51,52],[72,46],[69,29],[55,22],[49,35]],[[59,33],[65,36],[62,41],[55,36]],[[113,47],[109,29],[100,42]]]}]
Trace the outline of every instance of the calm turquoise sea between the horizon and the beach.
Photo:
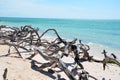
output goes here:
[{"label": "calm turquoise sea between the horizon and the beach", "polygon": [[[86,43],[97,43],[120,50],[120,20],[0,17],[0,25],[31,25],[38,27],[40,33],[54,28],[64,39],[78,38]],[[48,34],[55,36],[54,33]]]}]

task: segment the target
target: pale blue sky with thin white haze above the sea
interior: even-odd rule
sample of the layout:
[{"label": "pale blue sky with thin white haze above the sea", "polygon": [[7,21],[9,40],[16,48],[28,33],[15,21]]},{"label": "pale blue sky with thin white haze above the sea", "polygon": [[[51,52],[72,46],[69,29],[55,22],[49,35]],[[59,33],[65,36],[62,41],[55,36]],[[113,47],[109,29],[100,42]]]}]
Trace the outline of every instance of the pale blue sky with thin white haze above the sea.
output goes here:
[{"label": "pale blue sky with thin white haze above the sea", "polygon": [[0,17],[120,19],[120,0],[0,0]]}]

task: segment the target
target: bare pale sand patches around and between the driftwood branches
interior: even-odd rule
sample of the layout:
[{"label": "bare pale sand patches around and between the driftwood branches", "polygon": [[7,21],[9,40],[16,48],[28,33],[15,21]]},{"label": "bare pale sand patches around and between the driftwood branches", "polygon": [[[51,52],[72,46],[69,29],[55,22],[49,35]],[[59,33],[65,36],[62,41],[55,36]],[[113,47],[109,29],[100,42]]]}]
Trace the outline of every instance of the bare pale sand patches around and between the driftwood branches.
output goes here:
[{"label": "bare pale sand patches around and between the driftwood branches", "polygon": [[[97,53],[101,53],[101,50],[103,48],[98,48],[97,46],[93,47],[91,47],[90,53],[96,53],[95,57],[98,57]],[[8,48],[8,46],[0,45],[0,56],[7,54]],[[34,59],[42,63],[45,62],[45,60],[40,55],[35,56]],[[64,57],[63,61],[66,63],[72,63],[73,59],[70,57]],[[90,75],[96,77],[98,80],[102,80],[102,78],[105,78],[105,80],[120,80],[120,67],[118,67],[115,64],[107,64],[105,71],[103,70],[101,63],[83,62],[82,64],[84,65],[85,70],[88,71]],[[49,77],[52,74],[48,73],[47,75],[45,75],[43,73],[31,69],[30,61],[26,59],[0,57],[0,80],[3,80],[2,75],[4,73],[5,68],[8,69],[8,80],[53,80],[53,78]],[[69,80],[63,72],[60,72],[60,74],[65,79]]]}]

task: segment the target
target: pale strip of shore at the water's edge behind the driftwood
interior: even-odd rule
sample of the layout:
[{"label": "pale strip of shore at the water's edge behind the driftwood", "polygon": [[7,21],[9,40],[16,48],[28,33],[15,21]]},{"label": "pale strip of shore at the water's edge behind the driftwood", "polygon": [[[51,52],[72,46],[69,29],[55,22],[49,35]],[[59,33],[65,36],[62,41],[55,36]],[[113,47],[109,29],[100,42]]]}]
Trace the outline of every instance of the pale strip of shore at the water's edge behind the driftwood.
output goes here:
[{"label": "pale strip of shore at the water's edge behind the driftwood", "polygon": [[[53,38],[55,38],[55,36],[46,35],[44,38],[53,39]],[[66,39],[64,37],[63,37],[63,39],[65,39],[67,41],[72,41],[73,40],[73,39]],[[98,43],[92,43],[92,42],[83,42],[83,43],[90,46],[89,53],[90,53],[91,56],[95,55],[97,58],[103,58],[104,56],[101,53],[102,53],[103,50],[106,50],[108,55],[110,55],[111,53],[114,53],[118,57],[118,59],[120,60],[120,50],[119,49],[111,48],[109,46],[98,44]]]}]

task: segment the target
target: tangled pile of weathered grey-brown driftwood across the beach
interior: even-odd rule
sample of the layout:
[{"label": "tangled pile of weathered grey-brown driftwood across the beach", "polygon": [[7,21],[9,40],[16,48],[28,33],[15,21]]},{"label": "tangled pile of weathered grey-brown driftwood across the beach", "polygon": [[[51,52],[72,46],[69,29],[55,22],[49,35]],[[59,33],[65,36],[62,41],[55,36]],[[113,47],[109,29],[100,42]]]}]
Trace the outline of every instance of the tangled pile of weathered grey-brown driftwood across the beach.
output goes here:
[{"label": "tangled pile of weathered grey-brown driftwood across the beach", "polygon": [[[54,70],[55,68],[59,68],[63,71],[70,80],[88,80],[89,78],[93,78],[97,80],[95,77],[91,76],[86,70],[84,70],[84,66],[82,65],[83,61],[94,61],[103,63],[103,69],[105,70],[105,66],[108,62],[114,62],[120,66],[120,62],[117,60],[117,57],[112,53],[112,58],[107,56],[106,51],[103,50],[103,54],[105,58],[103,60],[96,60],[93,56],[90,56],[88,51],[90,47],[86,44],[83,44],[81,40],[79,43],[77,39],[73,41],[66,41],[62,39],[55,29],[48,29],[41,35],[38,33],[39,29],[35,29],[31,26],[22,26],[18,27],[7,27],[4,25],[0,26],[0,45],[8,45],[10,48],[8,50],[8,54],[2,55],[10,56],[11,47],[15,48],[19,58],[23,58],[22,52],[29,53],[26,59],[31,60],[31,68],[40,71],[44,68],[50,67],[48,72],[56,73],[56,80],[64,80],[60,77],[60,75]],[[53,31],[56,34],[56,39],[49,41],[43,40],[42,37],[49,31]],[[21,52],[22,49],[22,52]],[[66,66],[67,63],[64,63],[62,60],[63,56],[69,56],[70,53],[73,53],[75,65],[72,66],[72,69],[69,70]],[[48,63],[39,63],[38,61],[33,60],[32,58],[36,55],[40,54]],[[41,64],[38,66],[37,64]],[[75,77],[74,72],[79,71]],[[3,75],[4,79],[6,79],[7,69]]]}]

